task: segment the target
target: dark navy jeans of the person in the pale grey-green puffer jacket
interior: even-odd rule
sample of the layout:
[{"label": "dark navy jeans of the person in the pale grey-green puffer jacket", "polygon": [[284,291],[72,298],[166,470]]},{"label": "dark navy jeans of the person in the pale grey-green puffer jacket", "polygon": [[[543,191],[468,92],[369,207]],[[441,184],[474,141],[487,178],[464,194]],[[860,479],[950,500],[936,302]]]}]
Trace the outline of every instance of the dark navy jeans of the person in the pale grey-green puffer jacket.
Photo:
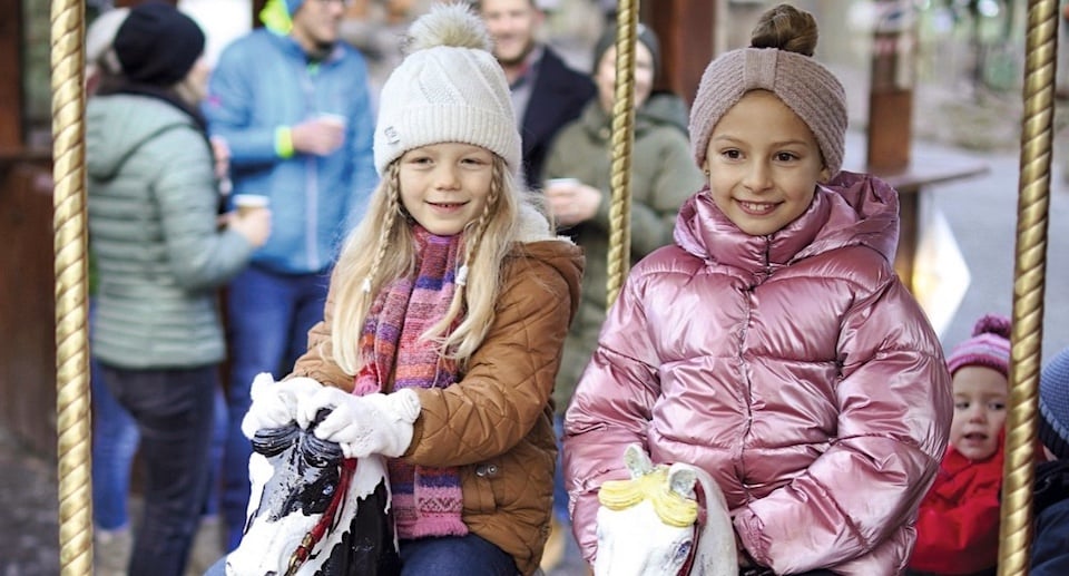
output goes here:
[{"label": "dark navy jeans of the person in the pale grey-green puffer jacket", "polygon": [[208,484],[218,367],[127,370],[102,364],[105,382],[137,421],[145,509],[130,576],[182,576]]}]

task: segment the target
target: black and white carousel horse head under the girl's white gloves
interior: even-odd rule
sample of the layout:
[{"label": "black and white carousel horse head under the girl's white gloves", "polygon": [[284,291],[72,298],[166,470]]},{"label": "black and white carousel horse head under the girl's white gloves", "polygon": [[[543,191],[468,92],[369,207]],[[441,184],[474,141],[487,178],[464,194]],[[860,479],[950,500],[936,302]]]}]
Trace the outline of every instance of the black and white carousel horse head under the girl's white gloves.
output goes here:
[{"label": "black and white carousel horse head under the girl's white gloves", "polygon": [[228,576],[400,573],[385,461],[345,460],[334,442],[296,422],[263,429],[248,461],[252,494]]}]

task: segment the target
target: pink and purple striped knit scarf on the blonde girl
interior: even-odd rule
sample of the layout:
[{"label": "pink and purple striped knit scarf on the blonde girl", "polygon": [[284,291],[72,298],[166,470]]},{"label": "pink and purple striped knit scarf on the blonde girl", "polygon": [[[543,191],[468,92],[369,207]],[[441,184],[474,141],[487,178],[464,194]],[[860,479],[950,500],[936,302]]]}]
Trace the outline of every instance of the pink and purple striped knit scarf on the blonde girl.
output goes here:
[{"label": "pink and purple striped knit scarf on the blonde girl", "polygon": [[[453,297],[461,236],[435,236],[414,225],[420,262],[413,279],[385,286],[372,303],[361,334],[366,359],[356,375],[353,393],[393,389],[445,388],[457,381],[457,363],[442,359],[434,342],[420,334],[449,310]],[[457,468],[412,466],[401,458],[388,460],[398,537],[463,536],[463,492]]]}]

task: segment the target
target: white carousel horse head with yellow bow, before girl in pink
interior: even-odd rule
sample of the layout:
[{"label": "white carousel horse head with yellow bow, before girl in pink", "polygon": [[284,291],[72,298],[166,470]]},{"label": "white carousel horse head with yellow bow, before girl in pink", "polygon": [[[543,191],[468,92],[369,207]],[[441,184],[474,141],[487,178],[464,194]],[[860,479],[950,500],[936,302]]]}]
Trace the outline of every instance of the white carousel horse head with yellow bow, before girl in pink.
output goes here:
[{"label": "white carousel horse head with yellow bow, before girl in pink", "polygon": [[624,451],[629,480],[598,492],[596,576],[737,576],[727,504],[708,474],[686,463],[654,466],[646,451]]}]

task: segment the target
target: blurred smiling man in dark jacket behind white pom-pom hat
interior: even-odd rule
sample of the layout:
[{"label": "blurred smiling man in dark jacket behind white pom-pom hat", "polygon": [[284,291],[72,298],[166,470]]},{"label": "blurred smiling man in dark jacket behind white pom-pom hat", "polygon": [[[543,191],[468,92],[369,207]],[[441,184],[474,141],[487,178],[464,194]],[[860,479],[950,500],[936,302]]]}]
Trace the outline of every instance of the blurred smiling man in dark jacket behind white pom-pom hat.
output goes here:
[{"label": "blurred smiling man in dark jacket behind white pom-pom hat", "polygon": [[594,82],[539,41],[545,14],[536,0],[478,0],[475,4],[493,37],[493,56],[504,69],[520,118],[523,177],[528,186],[537,187],[550,141],[594,98]]}]

